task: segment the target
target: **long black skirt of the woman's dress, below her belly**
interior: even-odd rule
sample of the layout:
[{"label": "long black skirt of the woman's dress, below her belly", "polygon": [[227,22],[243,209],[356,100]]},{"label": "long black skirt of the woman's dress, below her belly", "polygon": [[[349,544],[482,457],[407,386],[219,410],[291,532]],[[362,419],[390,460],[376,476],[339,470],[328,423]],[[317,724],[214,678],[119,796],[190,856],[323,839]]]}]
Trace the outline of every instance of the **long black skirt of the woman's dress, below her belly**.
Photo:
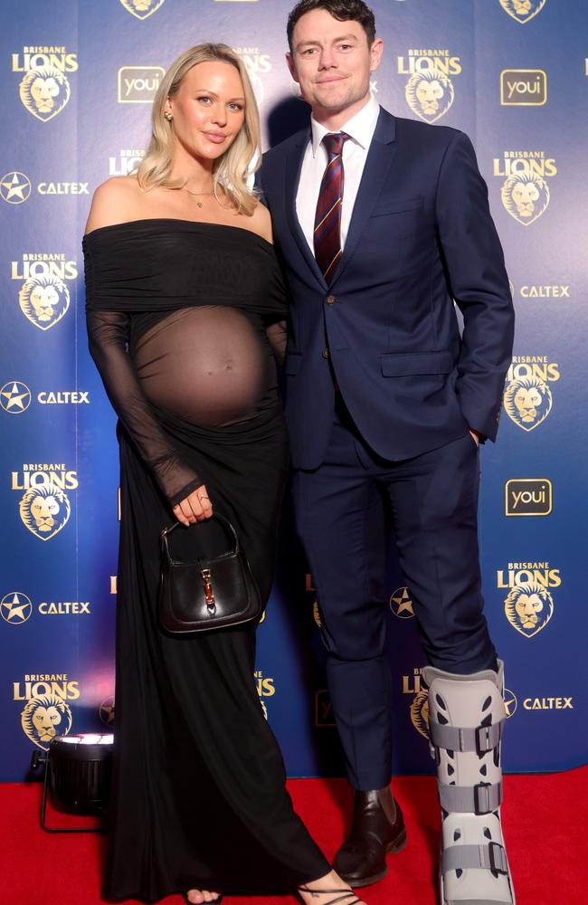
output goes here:
[{"label": "long black skirt of the woman's dress, below her belly", "polygon": [[[267,599],[287,469],[281,411],[212,430],[159,414],[213,507],[232,520]],[[116,722],[104,894],[152,902],[193,888],[294,891],[330,867],[285,789],[253,677],[255,627],[185,636],[161,629],[158,537],[173,517],[124,429],[118,433]],[[213,522],[185,534],[194,530],[204,546],[222,546]]]}]

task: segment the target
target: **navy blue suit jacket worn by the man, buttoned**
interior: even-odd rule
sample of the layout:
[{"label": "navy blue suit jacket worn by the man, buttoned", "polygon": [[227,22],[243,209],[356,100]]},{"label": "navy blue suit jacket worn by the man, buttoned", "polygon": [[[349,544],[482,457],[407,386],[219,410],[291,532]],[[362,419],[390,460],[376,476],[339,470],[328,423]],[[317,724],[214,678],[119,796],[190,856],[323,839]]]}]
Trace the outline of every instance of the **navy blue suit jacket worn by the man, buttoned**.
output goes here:
[{"label": "navy blue suit jacket worn by the man, buttoned", "polygon": [[469,138],[380,111],[330,286],[296,215],[308,140],[305,129],[268,151],[259,177],[291,292],[294,466],[317,468],[327,450],[329,357],[358,429],[384,458],[427,452],[469,427],[494,440],[514,311]]}]

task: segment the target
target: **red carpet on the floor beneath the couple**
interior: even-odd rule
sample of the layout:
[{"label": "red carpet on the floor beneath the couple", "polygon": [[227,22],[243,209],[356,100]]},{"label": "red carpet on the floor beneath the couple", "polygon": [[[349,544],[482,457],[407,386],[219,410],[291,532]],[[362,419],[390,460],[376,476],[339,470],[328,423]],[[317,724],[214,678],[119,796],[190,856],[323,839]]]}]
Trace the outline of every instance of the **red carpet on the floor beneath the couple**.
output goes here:
[{"label": "red carpet on the floor beneath the couple", "polygon": [[[517,905],[588,902],[588,767],[549,776],[507,776],[503,822]],[[327,856],[344,829],[342,780],[296,779],[289,790]],[[389,859],[386,879],[363,891],[368,905],[436,905],[437,805],[432,777],[394,779],[409,843]],[[40,784],[0,784],[2,905],[100,905],[104,838],[52,835],[39,827]],[[52,825],[70,816],[50,814]],[[165,905],[182,905],[170,896]],[[223,900],[227,905],[294,905],[292,897]]]}]

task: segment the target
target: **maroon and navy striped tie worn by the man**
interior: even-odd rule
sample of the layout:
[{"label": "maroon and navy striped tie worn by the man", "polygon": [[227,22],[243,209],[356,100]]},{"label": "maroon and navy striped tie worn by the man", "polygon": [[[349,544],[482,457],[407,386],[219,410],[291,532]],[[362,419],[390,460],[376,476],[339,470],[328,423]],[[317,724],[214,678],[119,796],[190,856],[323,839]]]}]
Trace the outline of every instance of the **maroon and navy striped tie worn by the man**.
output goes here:
[{"label": "maroon and navy striped tie worn by the man", "polygon": [[327,283],[335,276],[341,257],[341,205],[343,204],[343,145],[345,132],[331,132],[323,138],[327,148],[327,169],[318,193],[315,216],[315,257]]}]

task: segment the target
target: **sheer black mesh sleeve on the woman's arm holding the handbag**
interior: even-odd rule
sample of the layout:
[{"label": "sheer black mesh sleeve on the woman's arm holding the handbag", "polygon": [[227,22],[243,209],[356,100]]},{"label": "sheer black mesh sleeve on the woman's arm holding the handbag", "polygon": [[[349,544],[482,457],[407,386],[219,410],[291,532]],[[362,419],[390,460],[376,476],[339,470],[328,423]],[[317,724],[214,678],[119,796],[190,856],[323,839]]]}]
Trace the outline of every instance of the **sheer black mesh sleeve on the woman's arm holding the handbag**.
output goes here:
[{"label": "sheer black mesh sleeve on the woman's arm holding the handbag", "polygon": [[89,310],[86,319],[90,355],[100,371],[110,403],[173,507],[202,481],[170,445],[138,385],[127,352],[129,315]]}]

